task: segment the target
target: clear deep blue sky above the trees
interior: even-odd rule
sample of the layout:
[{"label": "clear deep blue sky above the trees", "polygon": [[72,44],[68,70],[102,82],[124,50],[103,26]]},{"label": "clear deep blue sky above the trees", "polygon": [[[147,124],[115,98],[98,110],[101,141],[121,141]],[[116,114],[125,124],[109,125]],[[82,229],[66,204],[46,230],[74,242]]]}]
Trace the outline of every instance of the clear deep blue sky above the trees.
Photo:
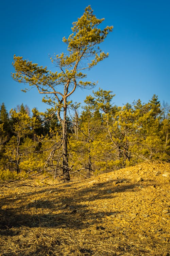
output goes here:
[{"label": "clear deep blue sky above the trees", "polygon": [[[0,10],[0,104],[7,110],[27,104],[45,111],[38,91],[21,92],[25,85],[13,81],[13,55],[23,56],[55,71],[49,55],[66,52],[62,42],[72,22],[91,5],[102,26],[114,26],[101,49],[109,57],[88,74],[88,80],[112,90],[116,105],[153,94],[170,103],[170,1],[169,0],[16,0],[2,1]],[[73,101],[83,102],[90,90],[78,90]]]}]

